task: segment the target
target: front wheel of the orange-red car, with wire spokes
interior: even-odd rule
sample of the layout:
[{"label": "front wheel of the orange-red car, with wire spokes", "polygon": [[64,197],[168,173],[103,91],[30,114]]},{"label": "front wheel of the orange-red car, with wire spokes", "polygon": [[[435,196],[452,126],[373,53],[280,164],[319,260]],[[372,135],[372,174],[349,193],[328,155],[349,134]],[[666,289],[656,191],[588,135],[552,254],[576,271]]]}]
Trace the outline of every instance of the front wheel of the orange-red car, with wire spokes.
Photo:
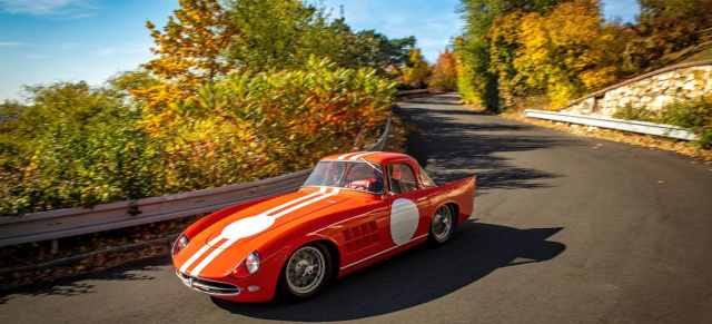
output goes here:
[{"label": "front wheel of the orange-red car, with wire spokes", "polygon": [[290,302],[315,296],[332,276],[332,255],[318,243],[303,245],[285,262],[279,274],[279,295]]}]

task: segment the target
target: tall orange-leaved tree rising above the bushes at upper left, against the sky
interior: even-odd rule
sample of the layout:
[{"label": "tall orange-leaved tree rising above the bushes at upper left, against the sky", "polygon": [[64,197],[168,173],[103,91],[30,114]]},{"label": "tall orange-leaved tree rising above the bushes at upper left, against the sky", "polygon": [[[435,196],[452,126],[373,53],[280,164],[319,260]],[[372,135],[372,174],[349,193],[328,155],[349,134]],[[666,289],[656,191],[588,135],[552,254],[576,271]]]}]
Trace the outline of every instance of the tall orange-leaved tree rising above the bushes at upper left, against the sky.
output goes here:
[{"label": "tall orange-leaved tree rising above the bushes at upper left, against the sky", "polygon": [[[217,0],[179,0],[180,9],[168,17],[164,32],[147,21],[146,27],[156,42],[151,52],[157,59],[144,68],[162,82],[140,87],[131,92],[146,101],[150,111],[147,125],[154,131],[170,121],[175,114],[171,102],[195,95],[201,85],[233,71],[237,66],[225,53],[239,43],[241,33],[229,21]],[[151,118],[152,117],[152,118]]]}]

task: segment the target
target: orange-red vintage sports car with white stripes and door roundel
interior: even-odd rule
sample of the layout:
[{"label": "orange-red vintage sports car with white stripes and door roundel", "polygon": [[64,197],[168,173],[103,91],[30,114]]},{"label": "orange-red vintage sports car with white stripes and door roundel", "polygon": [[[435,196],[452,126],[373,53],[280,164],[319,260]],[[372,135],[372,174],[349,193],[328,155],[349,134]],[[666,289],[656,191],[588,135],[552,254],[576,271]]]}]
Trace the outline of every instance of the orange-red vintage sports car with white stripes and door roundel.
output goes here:
[{"label": "orange-red vintage sports car with white stripes and door roundel", "polygon": [[337,278],[431,242],[473,212],[475,177],[436,186],[404,154],[322,159],[301,188],[204,217],[178,237],[176,274],[239,302],[308,298]]}]

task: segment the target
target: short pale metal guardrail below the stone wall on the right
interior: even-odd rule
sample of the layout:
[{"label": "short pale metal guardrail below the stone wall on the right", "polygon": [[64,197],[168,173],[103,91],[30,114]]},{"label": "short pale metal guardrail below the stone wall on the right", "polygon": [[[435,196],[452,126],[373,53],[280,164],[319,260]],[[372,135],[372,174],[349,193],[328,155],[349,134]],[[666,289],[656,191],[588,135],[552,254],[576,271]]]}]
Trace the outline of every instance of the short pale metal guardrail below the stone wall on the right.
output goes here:
[{"label": "short pale metal guardrail below the stone wall on the right", "polygon": [[568,114],[568,112],[533,110],[533,109],[524,110],[524,118],[538,118],[538,119],[556,120],[556,121],[563,121],[563,122],[578,124],[578,125],[590,125],[590,126],[596,126],[602,128],[664,136],[664,137],[671,137],[671,138],[684,139],[684,140],[695,140],[699,138],[696,135],[690,132],[688,129],[684,129],[678,126],[637,121],[637,120],[625,120],[625,119],[616,119],[616,118],[605,118],[605,117]]}]

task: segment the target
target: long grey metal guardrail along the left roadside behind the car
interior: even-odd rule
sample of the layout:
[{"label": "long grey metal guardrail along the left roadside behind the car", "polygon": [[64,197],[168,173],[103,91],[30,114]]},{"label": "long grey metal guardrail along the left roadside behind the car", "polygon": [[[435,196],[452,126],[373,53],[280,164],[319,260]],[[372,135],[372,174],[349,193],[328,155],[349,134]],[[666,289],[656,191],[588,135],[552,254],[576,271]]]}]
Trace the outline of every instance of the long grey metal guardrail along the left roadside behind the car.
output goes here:
[{"label": "long grey metal guardrail along the left roadside behind the car", "polygon": [[[366,150],[383,150],[390,117],[380,139]],[[93,208],[68,208],[24,216],[0,217],[0,246],[52,239],[125,228],[155,222],[211,213],[239,203],[296,192],[306,181],[312,169],[257,181],[218,188],[180,193],[161,197],[103,204]],[[140,214],[131,216],[130,212]]]}]

